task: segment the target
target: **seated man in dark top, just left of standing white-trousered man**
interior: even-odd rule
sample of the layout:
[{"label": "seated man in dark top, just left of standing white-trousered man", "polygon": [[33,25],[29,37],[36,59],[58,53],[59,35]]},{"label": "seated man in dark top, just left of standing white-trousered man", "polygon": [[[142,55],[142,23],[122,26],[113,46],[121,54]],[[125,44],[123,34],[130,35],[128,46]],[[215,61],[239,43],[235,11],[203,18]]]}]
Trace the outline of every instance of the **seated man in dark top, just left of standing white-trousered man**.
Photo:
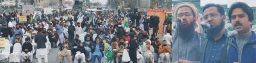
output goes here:
[{"label": "seated man in dark top, just left of standing white-trousered man", "polygon": [[22,53],[20,53],[20,55],[23,59],[22,62],[27,62],[27,61],[32,62],[31,61],[31,58],[33,58],[33,57],[31,57],[31,55],[32,55],[31,51],[33,50],[32,44],[29,43],[29,41],[30,41],[29,38],[26,38],[25,40],[26,40],[26,43],[24,43],[22,45]]}]

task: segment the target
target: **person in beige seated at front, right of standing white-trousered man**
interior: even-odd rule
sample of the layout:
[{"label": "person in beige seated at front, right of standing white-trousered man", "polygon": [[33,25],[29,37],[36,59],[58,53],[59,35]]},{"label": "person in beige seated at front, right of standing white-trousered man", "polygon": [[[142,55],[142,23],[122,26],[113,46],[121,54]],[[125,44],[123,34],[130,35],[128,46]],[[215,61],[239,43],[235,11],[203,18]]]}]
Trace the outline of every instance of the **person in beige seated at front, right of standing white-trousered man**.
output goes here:
[{"label": "person in beige seated at front, right of standing white-trousered man", "polygon": [[68,38],[65,38],[65,43],[60,46],[60,52],[57,53],[57,63],[60,63],[63,57],[67,57],[68,63],[72,63],[71,52],[68,52],[73,49],[73,46],[68,43]]}]

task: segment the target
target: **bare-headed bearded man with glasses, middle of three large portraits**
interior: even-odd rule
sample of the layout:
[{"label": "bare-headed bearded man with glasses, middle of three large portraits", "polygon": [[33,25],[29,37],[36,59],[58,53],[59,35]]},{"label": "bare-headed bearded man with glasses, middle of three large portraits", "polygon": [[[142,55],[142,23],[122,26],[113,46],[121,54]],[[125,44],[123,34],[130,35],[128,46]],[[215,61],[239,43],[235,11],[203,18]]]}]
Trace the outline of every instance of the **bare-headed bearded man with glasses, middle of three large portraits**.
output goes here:
[{"label": "bare-headed bearded man with glasses, middle of three large portraits", "polygon": [[[207,38],[202,38],[201,63],[227,63],[227,31],[225,11],[220,4],[206,4],[203,8]],[[204,27],[203,27],[204,28]]]}]

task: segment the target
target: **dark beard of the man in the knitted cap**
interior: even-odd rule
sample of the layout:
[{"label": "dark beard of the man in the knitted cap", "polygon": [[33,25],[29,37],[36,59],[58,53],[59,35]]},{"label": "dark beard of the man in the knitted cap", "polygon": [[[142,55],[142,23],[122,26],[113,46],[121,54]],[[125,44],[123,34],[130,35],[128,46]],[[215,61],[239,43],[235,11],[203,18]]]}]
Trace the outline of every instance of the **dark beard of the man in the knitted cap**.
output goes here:
[{"label": "dark beard of the man in the knitted cap", "polygon": [[195,31],[195,22],[196,21],[191,22],[191,24],[189,24],[188,26],[179,26],[179,35],[181,38],[186,38],[189,34],[191,34],[191,32]]}]

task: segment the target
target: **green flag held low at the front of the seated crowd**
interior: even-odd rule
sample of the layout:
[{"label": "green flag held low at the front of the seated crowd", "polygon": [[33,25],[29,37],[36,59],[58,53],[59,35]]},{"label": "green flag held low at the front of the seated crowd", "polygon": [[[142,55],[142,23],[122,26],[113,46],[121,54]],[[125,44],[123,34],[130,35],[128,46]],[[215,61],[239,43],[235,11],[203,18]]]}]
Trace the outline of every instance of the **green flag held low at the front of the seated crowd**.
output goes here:
[{"label": "green flag held low at the front of the seated crowd", "polygon": [[108,63],[111,63],[113,61],[113,49],[108,43],[106,43],[106,41],[104,42],[104,48],[106,60]]}]

